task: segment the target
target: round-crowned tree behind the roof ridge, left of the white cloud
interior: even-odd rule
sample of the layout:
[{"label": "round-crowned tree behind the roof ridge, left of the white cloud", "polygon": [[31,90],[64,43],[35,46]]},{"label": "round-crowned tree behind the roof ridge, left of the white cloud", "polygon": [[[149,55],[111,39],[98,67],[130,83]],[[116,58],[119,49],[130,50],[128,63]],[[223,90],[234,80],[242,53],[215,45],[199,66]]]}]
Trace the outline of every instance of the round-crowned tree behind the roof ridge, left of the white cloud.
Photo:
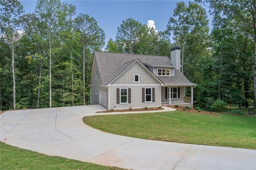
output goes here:
[{"label": "round-crowned tree behind the roof ridge, left of the white cloud", "polygon": [[139,41],[142,24],[128,18],[117,27],[116,40],[120,41],[124,53],[134,53],[134,44]]}]

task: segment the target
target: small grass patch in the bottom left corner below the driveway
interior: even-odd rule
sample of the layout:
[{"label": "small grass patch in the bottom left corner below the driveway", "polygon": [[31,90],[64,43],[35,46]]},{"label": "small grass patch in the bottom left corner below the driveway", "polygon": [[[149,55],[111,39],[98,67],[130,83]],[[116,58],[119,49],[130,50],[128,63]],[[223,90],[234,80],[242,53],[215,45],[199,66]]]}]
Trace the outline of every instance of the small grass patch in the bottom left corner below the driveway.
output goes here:
[{"label": "small grass patch in the bottom left corner below the driveway", "polygon": [[[79,160],[48,156],[26,149],[19,149],[5,143],[0,144],[1,170],[120,170]],[[86,154],[86,153],[85,153]]]}]

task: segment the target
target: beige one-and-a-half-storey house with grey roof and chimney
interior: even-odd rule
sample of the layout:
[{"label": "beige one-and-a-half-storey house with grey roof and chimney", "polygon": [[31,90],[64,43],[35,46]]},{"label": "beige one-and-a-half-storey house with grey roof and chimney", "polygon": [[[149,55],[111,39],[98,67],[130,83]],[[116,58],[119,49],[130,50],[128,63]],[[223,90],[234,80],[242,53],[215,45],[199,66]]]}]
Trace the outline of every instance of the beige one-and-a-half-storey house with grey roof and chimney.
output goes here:
[{"label": "beige one-and-a-half-storey house with grey roof and chimney", "polygon": [[171,49],[171,60],[166,56],[94,52],[90,102],[107,109],[162,104],[193,107],[196,85],[180,72],[180,47]]}]

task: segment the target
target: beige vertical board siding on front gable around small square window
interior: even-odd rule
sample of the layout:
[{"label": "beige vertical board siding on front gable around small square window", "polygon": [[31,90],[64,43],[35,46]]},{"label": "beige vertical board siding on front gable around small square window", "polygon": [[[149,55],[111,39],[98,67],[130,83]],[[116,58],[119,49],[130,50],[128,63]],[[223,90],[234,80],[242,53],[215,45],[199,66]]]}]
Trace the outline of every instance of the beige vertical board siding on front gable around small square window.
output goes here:
[{"label": "beige vertical board siding on front gable around small square window", "polygon": [[[140,82],[134,83],[134,74],[140,74]],[[111,84],[159,84],[140,64],[134,63]]]}]

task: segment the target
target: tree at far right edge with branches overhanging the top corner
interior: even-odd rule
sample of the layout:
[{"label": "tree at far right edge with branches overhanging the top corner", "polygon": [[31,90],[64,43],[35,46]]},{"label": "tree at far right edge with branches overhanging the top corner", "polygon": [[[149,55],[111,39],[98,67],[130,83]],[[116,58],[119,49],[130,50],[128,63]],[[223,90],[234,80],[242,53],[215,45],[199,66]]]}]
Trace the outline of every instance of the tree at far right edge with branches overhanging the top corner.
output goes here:
[{"label": "tree at far right edge with branches overhanging the top corner", "polygon": [[255,0],[198,0],[209,4],[213,15],[221,14],[232,20],[231,27],[239,27],[250,35],[254,43],[254,107],[256,104],[256,1]]}]

